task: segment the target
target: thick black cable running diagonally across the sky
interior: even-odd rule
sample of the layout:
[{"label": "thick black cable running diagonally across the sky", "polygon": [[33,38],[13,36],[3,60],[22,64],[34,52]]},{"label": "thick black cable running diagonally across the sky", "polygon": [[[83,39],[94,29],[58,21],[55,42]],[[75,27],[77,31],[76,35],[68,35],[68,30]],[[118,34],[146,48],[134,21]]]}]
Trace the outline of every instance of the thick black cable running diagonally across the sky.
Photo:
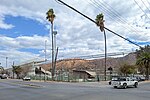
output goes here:
[{"label": "thick black cable running diagonally across the sky", "polygon": [[[78,10],[76,10],[75,8],[69,6],[69,5],[66,4],[65,2],[63,2],[63,1],[61,1],[61,0],[58,0],[58,1],[61,2],[62,4],[64,4],[65,6],[69,7],[70,9],[74,10],[75,12],[79,13],[80,15],[84,16],[85,18],[89,19],[91,22],[93,22],[93,23],[96,24],[96,21],[94,21],[94,20],[91,19],[90,17],[84,15],[83,13],[81,13],[81,12],[79,12]],[[142,48],[140,45],[138,45],[138,44],[132,42],[131,40],[129,40],[129,39],[127,39],[127,38],[125,38],[125,37],[123,37],[123,36],[121,36],[121,35],[119,35],[119,34],[117,34],[116,32],[114,32],[114,31],[112,31],[112,30],[110,30],[110,29],[108,29],[108,28],[106,28],[106,27],[104,27],[104,29],[106,29],[107,31],[109,31],[109,32],[111,32],[111,33],[113,33],[113,34],[119,36],[120,38],[123,38],[124,40],[126,40],[126,41],[128,41],[128,42],[130,42],[130,43],[132,43],[132,44],[134,44],[134,45],[136,45],[136,46]]]}]

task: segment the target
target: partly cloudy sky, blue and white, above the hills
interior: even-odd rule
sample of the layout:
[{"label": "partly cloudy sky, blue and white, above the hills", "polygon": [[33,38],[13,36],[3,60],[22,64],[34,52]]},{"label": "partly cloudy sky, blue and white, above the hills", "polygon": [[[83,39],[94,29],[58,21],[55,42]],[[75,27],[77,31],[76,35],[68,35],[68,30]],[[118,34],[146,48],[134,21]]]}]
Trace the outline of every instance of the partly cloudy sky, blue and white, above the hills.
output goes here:
[{"label": "partly cloudy sky, blue and white, above the hills", "polygon": [[[45,47],[46,59],[51,61],[51,23],[46,20],[50,8],[56,15],[58,59],[104,54],[104,36],[99,27],[56,1],[0,0],[0,66],[44,60]],[[150,45],[149,0],[62,1],[93,20],[103,13],[105,27],[142,47]],[[108,53],[139,49],[107,30],[106,35]]]}]

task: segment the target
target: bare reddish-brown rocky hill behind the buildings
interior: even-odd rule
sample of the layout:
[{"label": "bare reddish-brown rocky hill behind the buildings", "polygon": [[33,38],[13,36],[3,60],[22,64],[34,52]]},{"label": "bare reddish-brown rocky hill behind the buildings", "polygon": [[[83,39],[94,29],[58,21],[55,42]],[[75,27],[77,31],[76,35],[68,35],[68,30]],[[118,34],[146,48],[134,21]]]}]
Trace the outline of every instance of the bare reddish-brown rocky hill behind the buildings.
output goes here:
[{"label": "bare reddish-brown rocky hill behind the buildings", "polygon": [[[107,68],[112,67],[117,70],[119,66],[123,63],[134,65],[136,62],[136,54],[130,53],[124,57],[119,58],[107,58]],[[50,70],[51,64],[41,65],[45,70]],[[56,69],[64,70],[104,70],[104,59],[64,59],[59,60],[56,63]]]}]

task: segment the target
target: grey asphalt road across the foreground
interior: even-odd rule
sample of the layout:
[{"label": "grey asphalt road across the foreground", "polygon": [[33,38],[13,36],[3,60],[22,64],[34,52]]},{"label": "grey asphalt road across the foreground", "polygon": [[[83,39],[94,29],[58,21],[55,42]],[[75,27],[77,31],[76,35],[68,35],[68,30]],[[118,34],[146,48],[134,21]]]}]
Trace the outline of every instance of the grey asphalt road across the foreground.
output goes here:
[{"label": "grey asphalt road across the foreground", "polygon": [[101,83],[23,82],[0,79],[0,100],[150,100],[150,83],[114,89]]}]

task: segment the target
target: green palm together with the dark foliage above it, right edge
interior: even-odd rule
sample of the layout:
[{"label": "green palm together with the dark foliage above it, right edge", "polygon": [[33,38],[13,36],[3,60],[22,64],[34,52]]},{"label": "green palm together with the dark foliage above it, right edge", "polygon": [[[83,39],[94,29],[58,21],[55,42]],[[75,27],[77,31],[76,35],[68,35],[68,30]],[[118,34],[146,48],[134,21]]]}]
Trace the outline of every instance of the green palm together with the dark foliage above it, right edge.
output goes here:
[{"label": "green palm together with the dark foliage above it, right edge", "polygon": [[137,62],[136,64],[139,67],[141,73],[145,73],[146,79],[149,79],[150,74],[150,46],[147,45],[144,48],[137,50]]}]

